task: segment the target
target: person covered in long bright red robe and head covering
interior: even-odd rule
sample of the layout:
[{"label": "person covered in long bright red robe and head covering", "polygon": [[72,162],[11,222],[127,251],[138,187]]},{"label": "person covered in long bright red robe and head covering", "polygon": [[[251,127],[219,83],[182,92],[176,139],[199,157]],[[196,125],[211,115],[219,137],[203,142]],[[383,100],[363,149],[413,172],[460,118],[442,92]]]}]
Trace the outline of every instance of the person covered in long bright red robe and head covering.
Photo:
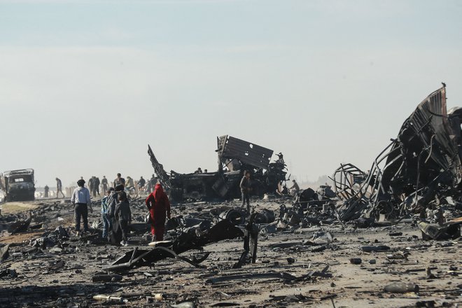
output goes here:
[{"label": "person covered in long bright red robe and head covering", "polygon": [[170,218],[170,202],[160,184],[155,184],[154,192],[146,198],[146,207],[151,214],[151,234],[155,235],[156,240],[162,241],[166,214]]}]

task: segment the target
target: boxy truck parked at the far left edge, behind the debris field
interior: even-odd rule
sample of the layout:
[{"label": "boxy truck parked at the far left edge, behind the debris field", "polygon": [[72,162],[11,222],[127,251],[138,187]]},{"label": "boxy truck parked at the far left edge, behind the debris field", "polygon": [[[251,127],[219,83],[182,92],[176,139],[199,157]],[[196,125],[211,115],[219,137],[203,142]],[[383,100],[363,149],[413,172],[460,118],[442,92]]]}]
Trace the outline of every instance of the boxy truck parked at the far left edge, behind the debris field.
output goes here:
[{"label": "boxy truck parked at the far left edge, behind the debris field", "polygon": [[34,169],[20,169],[0,174],[0,189],[5,201],[35,200]]}]

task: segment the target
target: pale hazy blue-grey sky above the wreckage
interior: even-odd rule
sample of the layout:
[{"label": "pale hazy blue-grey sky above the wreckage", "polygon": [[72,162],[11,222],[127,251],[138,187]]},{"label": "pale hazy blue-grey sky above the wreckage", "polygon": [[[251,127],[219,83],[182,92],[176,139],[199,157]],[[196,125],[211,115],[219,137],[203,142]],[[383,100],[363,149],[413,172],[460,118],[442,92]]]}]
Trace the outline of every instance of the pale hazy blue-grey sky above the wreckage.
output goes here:
[{"label": "pale hazy blue-grey sky above the wreckage", "polygon": [[461,1],[2,1],[0,172],[38,186],[217,169],[216,136],[297,179],[368,169],[427,94],[462,105]]}]

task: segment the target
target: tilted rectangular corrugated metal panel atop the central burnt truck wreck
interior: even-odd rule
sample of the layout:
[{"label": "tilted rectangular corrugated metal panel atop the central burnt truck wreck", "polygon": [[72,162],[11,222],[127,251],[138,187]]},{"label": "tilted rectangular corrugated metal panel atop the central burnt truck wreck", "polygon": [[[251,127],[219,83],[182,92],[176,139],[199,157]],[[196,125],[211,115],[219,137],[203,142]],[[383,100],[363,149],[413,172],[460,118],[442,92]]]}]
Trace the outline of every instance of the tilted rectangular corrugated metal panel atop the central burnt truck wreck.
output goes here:
[{"label": "tilted rectangular corrugated metal panel atop the central burnt truck wreck", "polygon": [[218,155],[221,158],[237,158],[246,165],[267,168],[273,151],[226,135],[218,138]]}]

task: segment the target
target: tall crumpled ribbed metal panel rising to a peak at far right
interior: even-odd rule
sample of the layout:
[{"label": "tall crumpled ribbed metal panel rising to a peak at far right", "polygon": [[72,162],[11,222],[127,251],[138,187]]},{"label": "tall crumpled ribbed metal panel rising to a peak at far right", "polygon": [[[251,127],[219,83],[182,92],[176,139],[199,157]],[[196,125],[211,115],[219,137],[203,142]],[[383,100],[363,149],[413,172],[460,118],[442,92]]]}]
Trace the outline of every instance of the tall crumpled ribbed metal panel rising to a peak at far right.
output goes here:
[{"label": "tall crumpled ribbed metal panel rising to a peak at far right", "polygon": [[461,182],[461,160],[455,136],[447,115],[446,89],[441,87],[423,99],[402,125],[395,147],[401,148],[405,164],[390,181],[401,176],[422,187],[448,171],[451,183],[447,184],[457,186]]}]

